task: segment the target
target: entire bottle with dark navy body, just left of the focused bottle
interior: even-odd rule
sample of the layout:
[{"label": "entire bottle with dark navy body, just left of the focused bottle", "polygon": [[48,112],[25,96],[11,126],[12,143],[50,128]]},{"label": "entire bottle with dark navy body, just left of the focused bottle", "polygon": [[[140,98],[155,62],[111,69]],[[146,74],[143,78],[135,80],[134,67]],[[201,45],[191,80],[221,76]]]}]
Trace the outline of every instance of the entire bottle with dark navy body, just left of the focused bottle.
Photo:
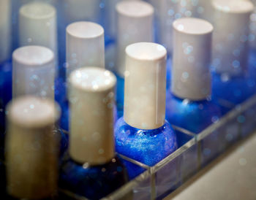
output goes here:
[{"label": "entire bottle with dark navy body, just left of the focused bottle", "polygon": [[115,75],[99,67],[77,69],[69,77],[69,156],[59,184],[88,199],[101,199],[127,182],[114,150],[115,87]]}]

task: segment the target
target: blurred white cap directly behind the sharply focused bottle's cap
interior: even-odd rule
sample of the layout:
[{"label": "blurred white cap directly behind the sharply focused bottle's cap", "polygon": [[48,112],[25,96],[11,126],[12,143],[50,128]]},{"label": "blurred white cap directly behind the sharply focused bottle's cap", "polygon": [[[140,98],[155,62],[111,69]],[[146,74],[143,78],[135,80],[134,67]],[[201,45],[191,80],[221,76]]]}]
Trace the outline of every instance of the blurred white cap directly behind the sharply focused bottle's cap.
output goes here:
[{"label": "blurred white cap directly behind the sharply focused bottle's cap", "polygon": [[116,5],[117,23],[117,69],[124,76],[125,48],[135,42],[153,42],[154,8],[144,1],[121,1]]}]

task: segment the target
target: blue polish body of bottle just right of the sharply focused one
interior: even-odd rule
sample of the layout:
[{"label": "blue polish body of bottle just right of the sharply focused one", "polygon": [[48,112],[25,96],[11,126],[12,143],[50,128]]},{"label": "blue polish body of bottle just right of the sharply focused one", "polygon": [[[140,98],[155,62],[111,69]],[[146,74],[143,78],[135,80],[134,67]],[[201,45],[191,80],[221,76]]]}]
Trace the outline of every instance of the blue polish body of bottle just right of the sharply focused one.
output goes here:
[{"label": "blue polish body of bottle just right of the sharply focused one", "polygon": [[197,134],[221,117],[221,109],[213,101],[178,99],[167,91],[166,119],[175,126]]}]

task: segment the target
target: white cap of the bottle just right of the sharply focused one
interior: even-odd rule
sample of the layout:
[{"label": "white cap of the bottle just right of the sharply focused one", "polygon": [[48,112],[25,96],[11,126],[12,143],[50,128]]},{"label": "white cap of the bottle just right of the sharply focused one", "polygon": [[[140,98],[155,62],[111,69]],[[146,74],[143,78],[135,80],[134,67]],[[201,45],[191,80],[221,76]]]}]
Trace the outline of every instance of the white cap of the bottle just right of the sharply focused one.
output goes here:
[{"label": "white cap of the bottle just right of the sharply focused one", "polygon": [[172,93],[181,99],[202,100],[211,95],[211,38],[206,20],[181,18],[173,23]]}]

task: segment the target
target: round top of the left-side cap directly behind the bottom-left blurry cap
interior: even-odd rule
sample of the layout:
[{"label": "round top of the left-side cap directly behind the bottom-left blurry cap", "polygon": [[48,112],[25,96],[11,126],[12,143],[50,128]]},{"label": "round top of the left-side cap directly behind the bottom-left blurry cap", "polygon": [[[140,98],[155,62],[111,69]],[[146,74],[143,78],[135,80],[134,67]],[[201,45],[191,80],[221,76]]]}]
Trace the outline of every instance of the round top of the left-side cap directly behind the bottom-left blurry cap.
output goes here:
[{"label": "round top of the left-side cap directly behind the bottom-left blurry cap", "polygon": [[26,46],[20,47],[12,53],[12,59],[27,66],[41,66],[54,60],[54,53],[47,47]]}]

